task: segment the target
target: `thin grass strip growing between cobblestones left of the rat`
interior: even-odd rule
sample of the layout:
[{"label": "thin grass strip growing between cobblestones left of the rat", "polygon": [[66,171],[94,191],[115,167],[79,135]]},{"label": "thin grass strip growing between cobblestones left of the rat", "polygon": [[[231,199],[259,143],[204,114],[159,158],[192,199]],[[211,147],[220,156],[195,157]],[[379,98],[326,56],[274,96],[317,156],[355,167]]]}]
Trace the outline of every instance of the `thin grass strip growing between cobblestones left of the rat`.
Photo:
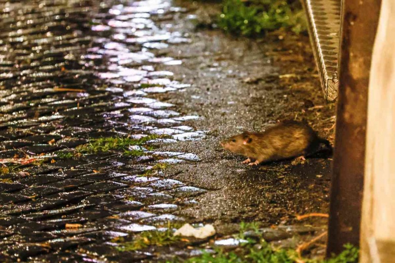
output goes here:
[{"label": "thin grass strip growing between cobblestones left of the rat", "polygon": [[103,153],[111,150],[122,150],[125,156],[142,156],[144,152],[142,150],[133,149],[130,150],[130,146],[141,146],[150,140],[160,138],[157,135],[148,135],[140,139],[132,138],[99,138],[92,139],[89,143],[78,146],[76,150],[80,153]]}]

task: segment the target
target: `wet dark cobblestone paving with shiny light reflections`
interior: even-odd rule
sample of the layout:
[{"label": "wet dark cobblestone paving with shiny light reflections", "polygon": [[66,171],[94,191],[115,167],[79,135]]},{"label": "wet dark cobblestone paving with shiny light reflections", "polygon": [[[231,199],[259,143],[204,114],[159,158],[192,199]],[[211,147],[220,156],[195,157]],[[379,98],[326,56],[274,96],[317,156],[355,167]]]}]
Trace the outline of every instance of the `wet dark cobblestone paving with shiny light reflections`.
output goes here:
[{"label": "wet dark cobblestone paving with shiny light reflections", "polygon": [[[173,212],[206,191],[155,169],[198,156],[151,149],[205,137],[184,123],[198,116],[149,96],[190,86],[173,79],[171,67],[182,61],[161,55],[188,37],[154,22],[184,10],[161,0],[1,6],[0,261],[152,258],[109,241],[184,222]],[[158,64],[169,70],[155,70]],[[74,154],[95,138],[146,136],[144,146],[128,149],[141,156]]]}]

